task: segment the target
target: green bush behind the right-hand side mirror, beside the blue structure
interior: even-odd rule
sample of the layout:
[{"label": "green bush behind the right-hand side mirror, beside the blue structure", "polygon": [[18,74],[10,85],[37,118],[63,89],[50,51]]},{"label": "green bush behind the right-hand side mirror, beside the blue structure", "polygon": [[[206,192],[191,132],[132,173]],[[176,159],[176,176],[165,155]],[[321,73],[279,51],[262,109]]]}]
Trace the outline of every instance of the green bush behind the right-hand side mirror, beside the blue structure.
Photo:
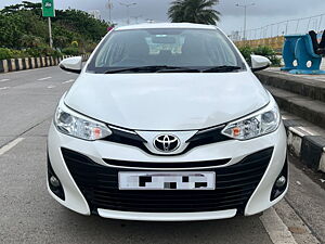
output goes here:
[{"label": "green bush behind the right-hand side mirror, beside the blue structure", "polygon": [[250,55],[262,55],[270,59],[272,62],[272,66],[280,66],[281,65],[281,59],[276,56],[275,51],[268,46],[259,46],[257,48],[251,48],[248,46],[240,47],[239,51],[242,52],[243,56],[245,57],[246,62],[250,64]]}]

